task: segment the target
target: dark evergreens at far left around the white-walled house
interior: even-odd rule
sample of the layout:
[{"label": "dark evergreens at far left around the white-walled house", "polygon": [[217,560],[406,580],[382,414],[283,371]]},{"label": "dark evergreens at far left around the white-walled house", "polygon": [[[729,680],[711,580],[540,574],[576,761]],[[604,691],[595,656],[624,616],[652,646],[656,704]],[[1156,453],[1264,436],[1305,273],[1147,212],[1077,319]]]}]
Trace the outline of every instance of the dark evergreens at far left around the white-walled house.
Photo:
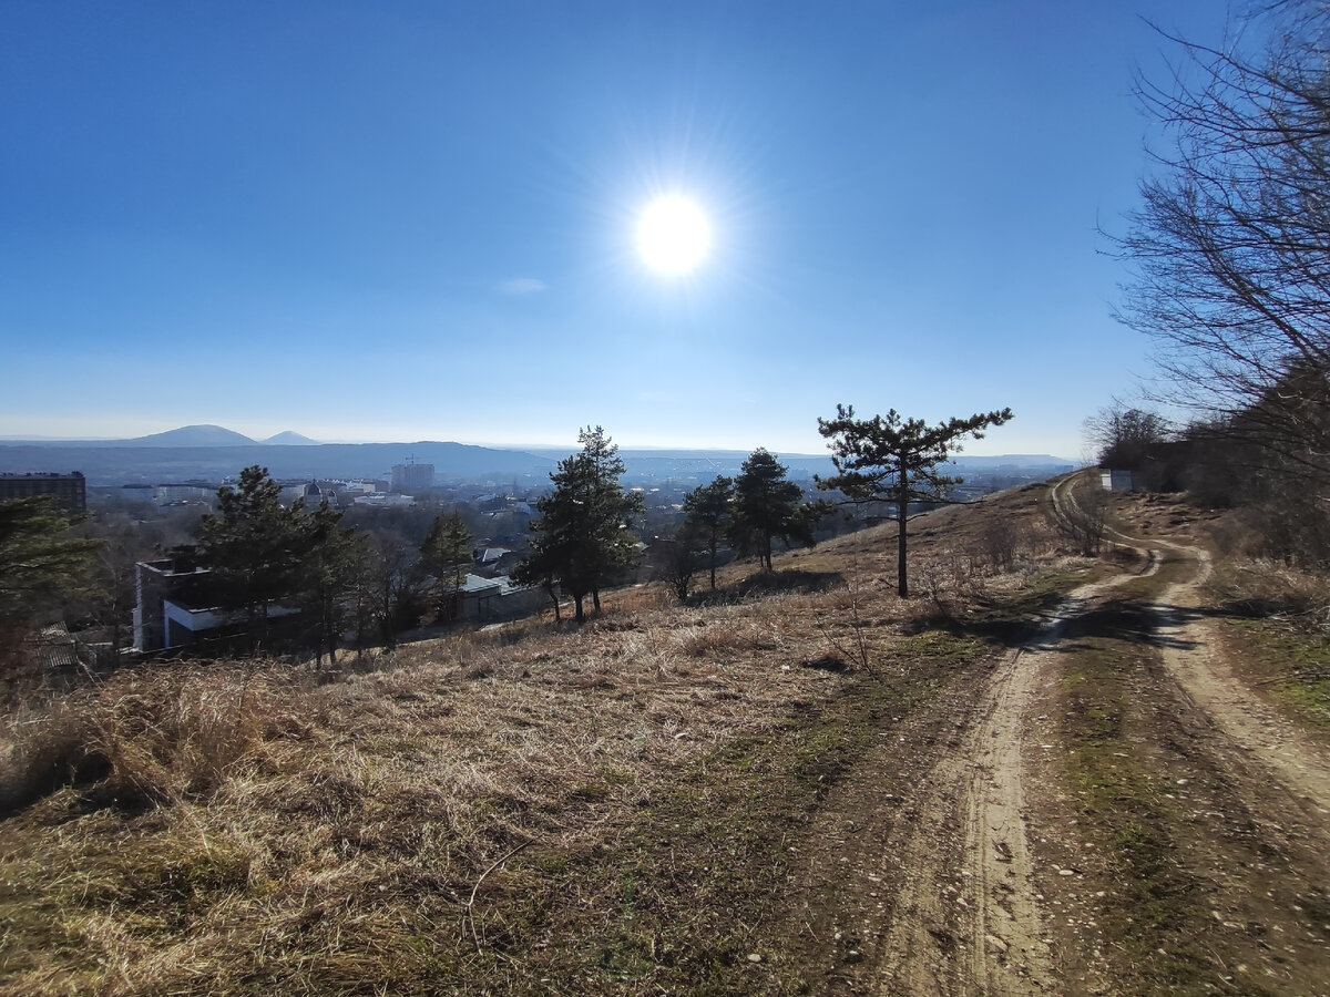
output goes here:
[{"label": "dark evergreens at far left around the white-walled house", "polygon": [[[391,646],[430,613],[452,618],[472,564],[472,534],[454,509],[423,540],[343,524],[326,501],[283,505],[266,468],[250,467],[217,493],[215,512],[156,552],[125,530],[97,528],[52,497],[0,502],[0,671],[57,619],[93,625],[118,657],[134,606],[134,562],[169,556],[206,569],[192,586],[200,608],[237,621],[231,643],[303,649],[335,658],[356,646]],[[133,533],[133,530],[129,530]]]}]

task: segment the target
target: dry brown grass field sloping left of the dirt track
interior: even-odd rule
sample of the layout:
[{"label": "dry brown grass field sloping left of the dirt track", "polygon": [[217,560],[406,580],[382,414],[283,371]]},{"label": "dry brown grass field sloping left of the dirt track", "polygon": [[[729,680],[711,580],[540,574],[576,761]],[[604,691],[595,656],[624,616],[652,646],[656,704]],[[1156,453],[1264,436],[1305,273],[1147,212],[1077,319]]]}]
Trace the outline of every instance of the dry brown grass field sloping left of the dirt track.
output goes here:
[{"label": "dry brown grass field sloping left of the dirt track", "polygon": [[[0,758],[0,989],[871,989],[884,964],[850,948],[845,904],[892,913],[845,828],[931,819],[900,800],[962,750],[999,662],[1123,570],[1061,550],[1047,502],[916,520],[907,601],[888,525],[774,576],[730,565],[689,605],[612,593],[581,629],[547,615],[336,671],[162,662],[33,699]],[[1068,756],[1093,751],[1073,720]]]}]

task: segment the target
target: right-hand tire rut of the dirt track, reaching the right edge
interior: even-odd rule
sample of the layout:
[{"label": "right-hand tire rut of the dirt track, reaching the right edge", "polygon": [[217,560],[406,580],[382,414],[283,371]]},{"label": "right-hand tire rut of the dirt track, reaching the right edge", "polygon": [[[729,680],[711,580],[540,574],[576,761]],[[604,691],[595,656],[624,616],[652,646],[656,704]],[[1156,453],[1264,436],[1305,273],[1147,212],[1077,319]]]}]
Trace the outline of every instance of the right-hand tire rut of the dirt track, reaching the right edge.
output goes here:
[{"label": "right-hand tire rut of the dirt track, reaching the right edge", "polygon": [[1140,600],[1157,651],[1153,746],[1144,760],[1182,811],[1168,833],[1193,903],[1204,904],[1200,916],[1205,908],[1210,916],[1181,927],[1169,946],[1181,941],[1193,957],[1201,953],[1196,978],[1221,988],[1330,994],[1330,750],[1230,665],[1204,589],[1206,550],[1177,537],[1108,534],[1185,569]]}]

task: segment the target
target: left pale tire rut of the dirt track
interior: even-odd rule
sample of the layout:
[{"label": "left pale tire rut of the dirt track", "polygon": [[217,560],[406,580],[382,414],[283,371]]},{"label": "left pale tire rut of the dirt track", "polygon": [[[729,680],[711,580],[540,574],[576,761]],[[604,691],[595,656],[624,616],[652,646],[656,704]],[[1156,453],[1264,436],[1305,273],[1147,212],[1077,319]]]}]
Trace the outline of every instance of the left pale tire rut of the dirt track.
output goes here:
[{"label": "left pale tire rut of the dirt track", "polygon": [[[1152,561],[1148,573],[1157,568]],[[882,945],[879,993],[1061,990],[1033,877],[1023,748],[1067,623],[1137,577],[1083,585],[1063,600],[998,662],[960,742],[927,774],[916,816],[887,844],[906,875]]]}]

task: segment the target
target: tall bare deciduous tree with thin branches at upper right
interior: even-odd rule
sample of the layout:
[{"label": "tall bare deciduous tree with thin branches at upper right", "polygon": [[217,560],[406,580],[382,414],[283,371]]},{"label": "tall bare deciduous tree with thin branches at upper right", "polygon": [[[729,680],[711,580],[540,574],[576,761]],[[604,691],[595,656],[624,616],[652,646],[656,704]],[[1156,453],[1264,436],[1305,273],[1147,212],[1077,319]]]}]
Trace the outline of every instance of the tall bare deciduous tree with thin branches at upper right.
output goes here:
[{"label": "tall bare deciduous tree with thin branches at upper right", "polygon": [[[1120,318],[1154,338],[1158,395],[1330,473],[1330,5],[1286,0],[1220,48],[1170,39],[1138,82],[1168,140],[1117,249]],[[1261,49],[1250,44],[1265,35]],[[1234,416],[1241,415],[1241,419]]]}]

